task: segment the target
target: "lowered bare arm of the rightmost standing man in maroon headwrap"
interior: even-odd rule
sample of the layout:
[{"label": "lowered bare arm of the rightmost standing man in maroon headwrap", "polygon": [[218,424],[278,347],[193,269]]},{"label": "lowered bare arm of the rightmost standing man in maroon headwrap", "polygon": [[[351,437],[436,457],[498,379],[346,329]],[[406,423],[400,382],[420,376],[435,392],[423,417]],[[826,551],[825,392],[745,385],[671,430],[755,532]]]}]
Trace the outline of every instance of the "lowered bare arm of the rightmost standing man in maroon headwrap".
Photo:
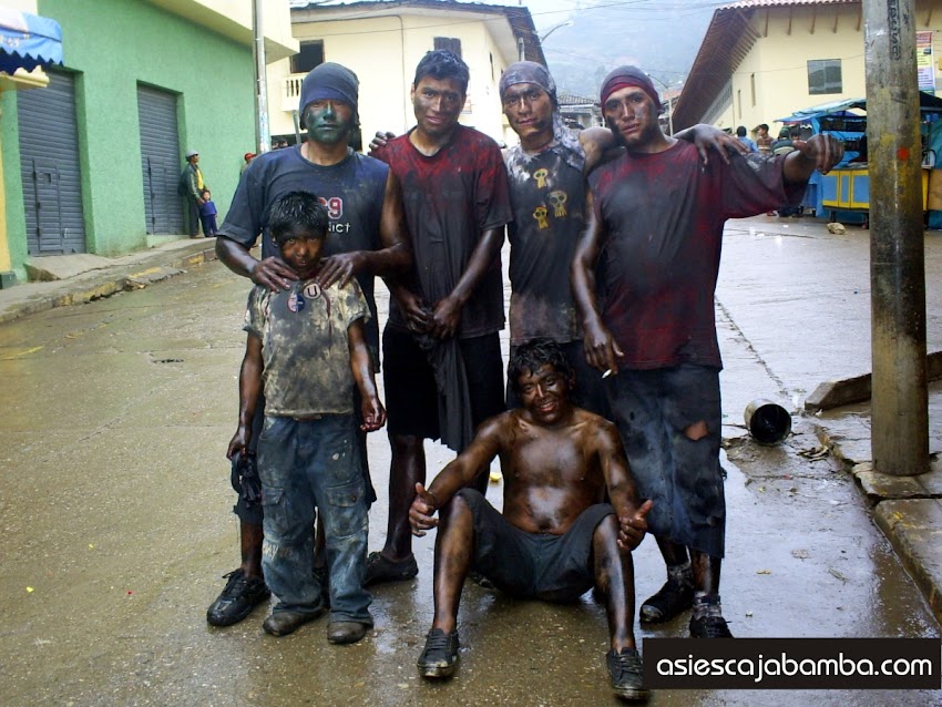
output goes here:
[{"label": "lowered bare arm of the rightmost standing man in maroon headwrap", "polygon": [[595,216],[592,192],[585,195],[587,215],[585,230],[580,234],[570,269],[573,298],[584,332],[585,359],[597,370],[618,372],[618,357],[622,350],[612,337],[612,332],[602,322],[598,301],[595,296],[595,263],[602,245],[603,227]]}]

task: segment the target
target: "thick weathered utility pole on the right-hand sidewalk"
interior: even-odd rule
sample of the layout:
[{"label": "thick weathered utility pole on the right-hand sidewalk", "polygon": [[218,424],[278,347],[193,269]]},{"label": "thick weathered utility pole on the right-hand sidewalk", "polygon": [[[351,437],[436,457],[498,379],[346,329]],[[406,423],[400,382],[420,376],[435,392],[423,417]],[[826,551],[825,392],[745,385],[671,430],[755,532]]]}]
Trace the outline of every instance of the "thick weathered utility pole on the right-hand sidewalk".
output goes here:
[{"label": "thick weathered utility pole on the right-hand sidewalk", "polygon": [[876,471],[929,470],[915,1],[863,0]]}]

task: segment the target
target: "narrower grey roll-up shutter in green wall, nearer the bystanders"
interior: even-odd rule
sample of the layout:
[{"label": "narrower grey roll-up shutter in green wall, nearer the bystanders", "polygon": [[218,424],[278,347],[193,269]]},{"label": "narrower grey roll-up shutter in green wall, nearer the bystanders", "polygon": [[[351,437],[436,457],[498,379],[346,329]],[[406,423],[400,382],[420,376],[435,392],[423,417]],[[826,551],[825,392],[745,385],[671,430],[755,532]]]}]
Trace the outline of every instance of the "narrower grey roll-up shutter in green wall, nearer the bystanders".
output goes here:
[{"label": "narrower grey roll-up shutter in green wall, nearer the bystanders", "polygon": [[183,205],[176,193],[182,171],[176,129],[176,95],[137,86],[144,215],[150,234],[183,233]]}]

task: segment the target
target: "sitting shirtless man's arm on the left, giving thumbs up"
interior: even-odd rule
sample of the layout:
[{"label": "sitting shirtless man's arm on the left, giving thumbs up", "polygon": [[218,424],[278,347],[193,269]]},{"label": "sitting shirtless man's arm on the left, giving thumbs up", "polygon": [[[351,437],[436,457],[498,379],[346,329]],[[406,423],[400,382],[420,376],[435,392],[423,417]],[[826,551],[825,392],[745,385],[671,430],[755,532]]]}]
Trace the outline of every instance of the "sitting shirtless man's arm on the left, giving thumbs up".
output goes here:
[{"label": "sitting shirtless man's arm on the left, giving thumbs up", "polygon": [[438,520],[433,518],[436,511],[451,501],[478,474],[484,473],[500,451],[503,429],[509,423],[510,414],[503,412],[485,420],[471,443],[441,470],[428,490],[421,483],[416,484],[416,500],[409,509],[409,524],[413,535],[421,537],[427,530],[438,525]]}]

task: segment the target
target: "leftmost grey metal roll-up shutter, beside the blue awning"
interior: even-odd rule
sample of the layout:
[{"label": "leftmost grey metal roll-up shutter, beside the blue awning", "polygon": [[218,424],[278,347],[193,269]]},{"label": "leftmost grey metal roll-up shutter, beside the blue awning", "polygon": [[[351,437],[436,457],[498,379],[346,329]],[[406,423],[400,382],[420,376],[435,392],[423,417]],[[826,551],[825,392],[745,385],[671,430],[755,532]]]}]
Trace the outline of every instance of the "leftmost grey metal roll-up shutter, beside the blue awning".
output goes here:
[{"label": "leftmost grey metal roll-up shutter, beside the blue awning", "polygon": [[20,174],[30,255],[85,252],[75,82],[49,71],[44,89],[17,95]]}]

